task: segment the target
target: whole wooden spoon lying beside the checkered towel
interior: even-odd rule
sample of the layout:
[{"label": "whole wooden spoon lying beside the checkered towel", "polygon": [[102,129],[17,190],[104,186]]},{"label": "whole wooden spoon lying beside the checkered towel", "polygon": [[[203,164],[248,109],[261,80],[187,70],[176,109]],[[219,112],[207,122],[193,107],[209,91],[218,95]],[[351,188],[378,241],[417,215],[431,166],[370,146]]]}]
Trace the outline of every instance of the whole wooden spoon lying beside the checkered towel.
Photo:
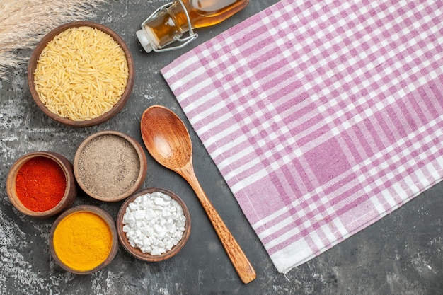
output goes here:
[{"label": "whole wooden spoon lying beside the checkered towel", "polygon": [[161,165],[176,171],[188,181],[214,226],[238,276],[245,284],[251,282],[256,276],[251,262],[214,209],[195,176],[192,165],[192,143],[183,121],[168,108],[154,105],[144,111],[140,127],[149,154]]}]

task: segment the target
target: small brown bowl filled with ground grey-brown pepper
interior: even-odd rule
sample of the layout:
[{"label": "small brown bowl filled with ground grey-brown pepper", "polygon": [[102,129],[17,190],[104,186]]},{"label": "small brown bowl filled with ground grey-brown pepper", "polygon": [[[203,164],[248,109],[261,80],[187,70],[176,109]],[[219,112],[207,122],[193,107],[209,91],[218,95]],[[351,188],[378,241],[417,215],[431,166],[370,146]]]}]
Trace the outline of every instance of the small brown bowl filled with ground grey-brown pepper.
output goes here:
[{"label": "small brown bowl filled with ground grey-brown pepper", "polygon": [[142,146],[117,131],[87,137],[74,156],[74,175],[87,195],[104,202],[117,202],[136,192],[144,183],[147,161]]}]

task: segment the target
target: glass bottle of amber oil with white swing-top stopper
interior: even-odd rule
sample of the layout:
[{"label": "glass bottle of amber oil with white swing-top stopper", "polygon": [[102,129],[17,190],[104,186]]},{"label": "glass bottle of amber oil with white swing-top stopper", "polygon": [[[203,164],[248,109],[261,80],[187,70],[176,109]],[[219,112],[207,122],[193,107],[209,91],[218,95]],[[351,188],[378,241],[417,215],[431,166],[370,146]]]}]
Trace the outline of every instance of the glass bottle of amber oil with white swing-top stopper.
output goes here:
[{"label": "glass bottle of amber oil with white swing-top stopper", "polygon": [[[184,47],[197,37],[193,29],[216,25],[241,11],[249,0],[177,0],[161,6],[142,23],[137,37],[146,52]],[[183,33],[189,32],[187,37]],[[166,47],[172,42],[175,47]]]}]

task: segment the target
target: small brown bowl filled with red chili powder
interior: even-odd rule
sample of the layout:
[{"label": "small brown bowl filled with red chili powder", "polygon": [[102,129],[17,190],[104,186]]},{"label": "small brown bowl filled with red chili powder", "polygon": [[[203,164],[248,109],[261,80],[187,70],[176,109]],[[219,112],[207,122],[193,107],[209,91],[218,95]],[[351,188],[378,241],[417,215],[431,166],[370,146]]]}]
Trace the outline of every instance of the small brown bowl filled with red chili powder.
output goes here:
[{"label": "small brown bowl filled with red chili powder", "polygon": [[71,207],[77,194],[71,162],[52,151],[25,154],[6,178],[6,193],[16,209],[45,218]]}]

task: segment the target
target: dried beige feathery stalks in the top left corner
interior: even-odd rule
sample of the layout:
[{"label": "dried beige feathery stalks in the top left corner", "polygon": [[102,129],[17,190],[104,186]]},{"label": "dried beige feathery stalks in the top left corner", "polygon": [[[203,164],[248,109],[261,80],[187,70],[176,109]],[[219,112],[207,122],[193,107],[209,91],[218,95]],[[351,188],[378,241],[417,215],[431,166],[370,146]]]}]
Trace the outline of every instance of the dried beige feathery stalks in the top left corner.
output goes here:
[{"label": "dried beige feathery stalks in the top left corner", "polygon": [[29,49],[62,23],[93,17],[92,9],[105,0],[0,0],[0,79],[8,70],[27,64]]}]

